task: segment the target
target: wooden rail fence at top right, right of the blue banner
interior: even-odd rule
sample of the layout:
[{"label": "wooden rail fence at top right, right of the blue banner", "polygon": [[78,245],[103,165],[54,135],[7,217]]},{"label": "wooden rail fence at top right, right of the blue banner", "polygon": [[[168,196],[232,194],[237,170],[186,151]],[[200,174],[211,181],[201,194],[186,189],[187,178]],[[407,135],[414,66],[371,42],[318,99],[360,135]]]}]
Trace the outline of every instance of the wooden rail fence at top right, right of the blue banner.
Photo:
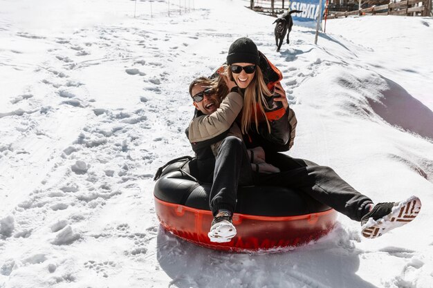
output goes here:
[{"label": "wooden rail fence at top right, right of the blue banner", "polygon": [[405,15],[429,17],[431,13],[432,0],[405,0],[355,11],[329,12],[328,19],[347,17],[350,15]]}]

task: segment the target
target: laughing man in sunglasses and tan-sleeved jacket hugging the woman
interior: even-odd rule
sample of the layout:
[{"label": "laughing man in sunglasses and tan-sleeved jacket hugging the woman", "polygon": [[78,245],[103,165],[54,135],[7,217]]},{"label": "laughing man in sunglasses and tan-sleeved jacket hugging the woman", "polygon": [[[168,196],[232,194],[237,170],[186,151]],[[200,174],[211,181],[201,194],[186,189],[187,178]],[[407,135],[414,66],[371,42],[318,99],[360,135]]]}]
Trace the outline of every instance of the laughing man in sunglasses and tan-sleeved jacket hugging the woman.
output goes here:
[{"label": "laughing man in sunglasses and tan-sleeved jacket hugging the woman", "polygon": [[243,106],[243,96],[233,81],[225,79],[230,93],[222,101],[211,79],[199,77],[190,84],[196,113],[187,136],[196,153],[199,180],[212,182],[210,209],[214,220],[208,234],[212,242],[229,242],[236,235],[232,215],[237,186],[252,183],[251,167],[259,173],[279,172],[264,161],[260,147],[247,151],[235,122]]}]

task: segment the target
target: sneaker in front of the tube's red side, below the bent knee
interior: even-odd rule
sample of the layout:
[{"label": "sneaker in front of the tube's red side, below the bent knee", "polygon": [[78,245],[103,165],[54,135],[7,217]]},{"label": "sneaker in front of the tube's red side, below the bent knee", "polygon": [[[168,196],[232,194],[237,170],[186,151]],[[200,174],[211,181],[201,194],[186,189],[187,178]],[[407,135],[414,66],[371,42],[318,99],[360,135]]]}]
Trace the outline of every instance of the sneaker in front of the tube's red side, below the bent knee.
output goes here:
[{"label": "sneaker in front of the tube's red side, below the bent knee", "polygon": [[228,212],[220,212],[216,214],[212,224],[210,224],[210,232],[208,237],[211,242],[230,242],[236,235],[236,228],[233,226],[232,215]]}]

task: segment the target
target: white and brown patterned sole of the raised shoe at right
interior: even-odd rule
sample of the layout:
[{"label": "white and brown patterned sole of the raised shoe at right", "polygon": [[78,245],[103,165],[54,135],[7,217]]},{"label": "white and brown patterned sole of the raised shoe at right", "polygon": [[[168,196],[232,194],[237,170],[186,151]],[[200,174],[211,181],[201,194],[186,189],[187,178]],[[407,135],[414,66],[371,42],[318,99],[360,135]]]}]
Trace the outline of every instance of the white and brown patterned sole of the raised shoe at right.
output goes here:
[{"label": "white and brown patterned sole of the raised shoe at right", "polygon": [[369,219],[362,227],[362,236],[373,239],[414,220],[421,210],[421,200],[411,197],[392,208],[391,213],[378,220]]}]

